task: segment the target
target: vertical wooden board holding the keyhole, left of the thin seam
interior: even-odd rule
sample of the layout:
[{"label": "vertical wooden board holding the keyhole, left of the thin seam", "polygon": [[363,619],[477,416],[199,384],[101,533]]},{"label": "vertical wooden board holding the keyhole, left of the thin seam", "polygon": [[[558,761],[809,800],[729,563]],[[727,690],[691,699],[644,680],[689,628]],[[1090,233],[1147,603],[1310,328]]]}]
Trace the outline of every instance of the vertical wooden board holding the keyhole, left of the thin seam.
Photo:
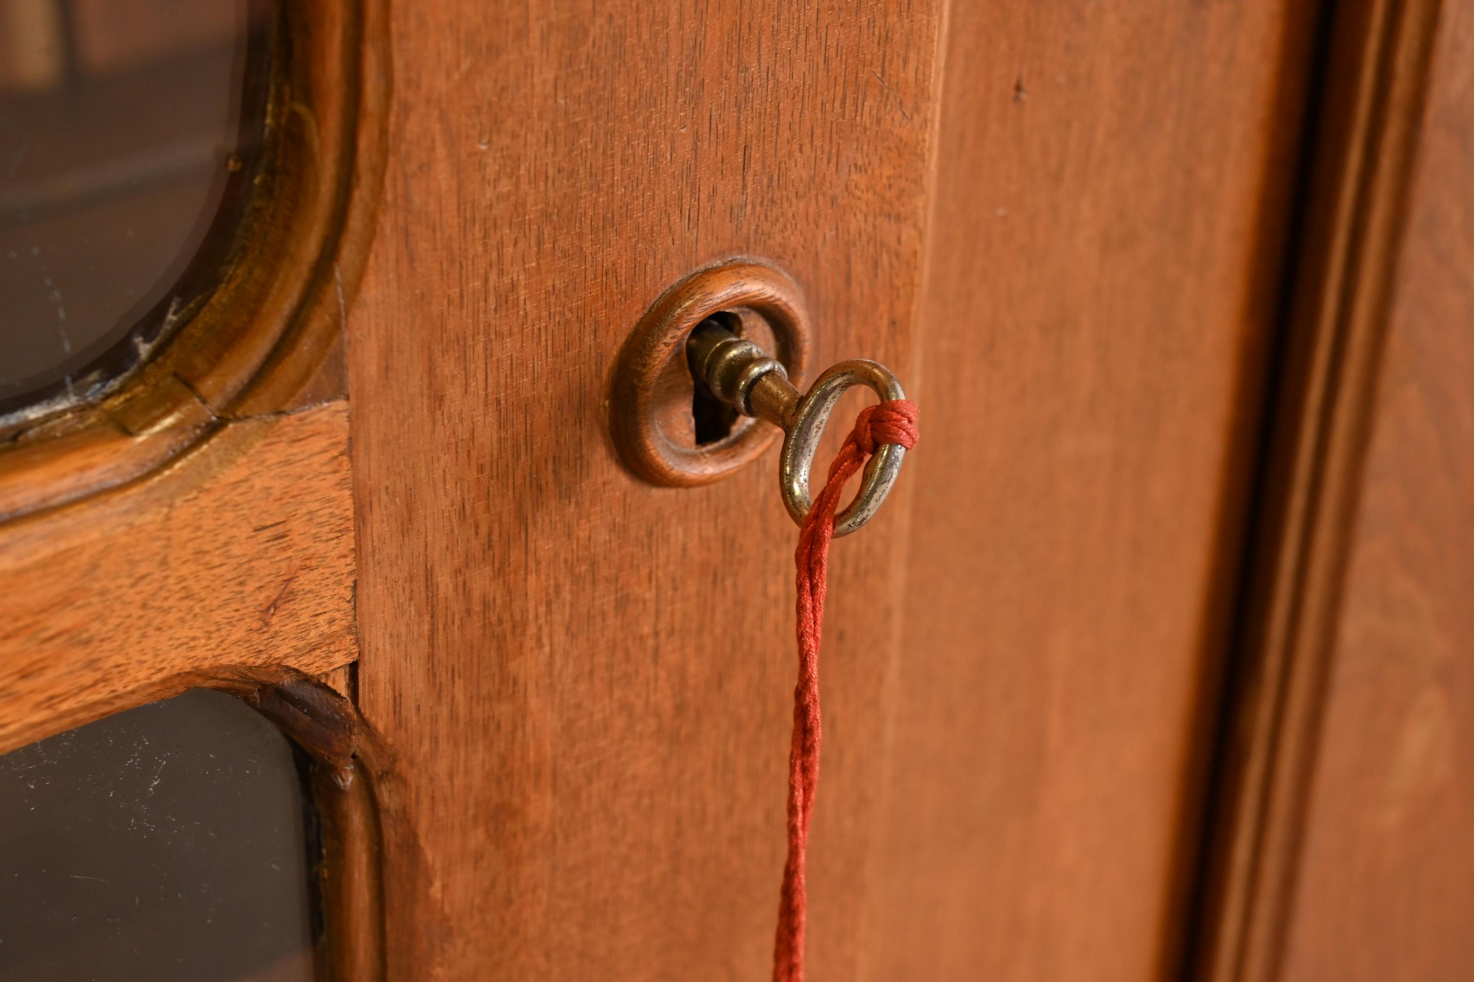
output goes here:
[{"label": "vertical wooden board holding the keyhole, left of the thin seam", "polygon": [[[909,375],[936,29],[932,3],[394,6],[349,328],[358,696],[402,782],[391,979],[768,972],[796,673],[777,459],[650,487],[601,403],[650,303],[734,255],[796,277],[815,365]],[[815,978],[859,970],[905,493],[831,564]]]}]

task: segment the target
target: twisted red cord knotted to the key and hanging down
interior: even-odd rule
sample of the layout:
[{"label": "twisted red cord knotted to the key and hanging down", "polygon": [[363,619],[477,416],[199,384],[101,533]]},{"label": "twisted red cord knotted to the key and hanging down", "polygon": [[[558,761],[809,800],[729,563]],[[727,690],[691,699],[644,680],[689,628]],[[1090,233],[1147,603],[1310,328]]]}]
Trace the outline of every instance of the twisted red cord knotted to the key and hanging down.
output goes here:
[{"label": "twisted red cord knotted to the key and hanging down", "polygon": [[772,953],[774,982],[803,982],[803,920],[808,900],[803,888],[803,854],[809,841],[809,816],[820,783],[820,632],[824,626],[824,576],[828,546],[834,539],[834,511],[845,481],[883,443],[911,449],[917,442],[917,406],[892,399],[862,409],[855,428],[845,437],[830,464],[824,490],[814,499],[799,530],[799,685],[793,689],[793,748],[789,752],[789,861],[783,867],[778,900],[778,938]]}]

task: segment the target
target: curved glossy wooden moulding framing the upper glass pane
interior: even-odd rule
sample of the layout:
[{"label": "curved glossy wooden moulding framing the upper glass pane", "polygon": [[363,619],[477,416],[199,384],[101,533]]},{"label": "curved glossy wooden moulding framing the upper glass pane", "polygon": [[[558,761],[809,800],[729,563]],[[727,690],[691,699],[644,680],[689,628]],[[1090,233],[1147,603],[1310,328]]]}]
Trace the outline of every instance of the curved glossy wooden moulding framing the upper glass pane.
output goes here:
[{"label": "curved glossy wooden moulding framing the upper glass pane", "polygon": [[116,392],[0,437],[0,526],[146,477],[231,421],[320,389],[383,175],[383,7],[283,4],[265,159],[220,284]]}]

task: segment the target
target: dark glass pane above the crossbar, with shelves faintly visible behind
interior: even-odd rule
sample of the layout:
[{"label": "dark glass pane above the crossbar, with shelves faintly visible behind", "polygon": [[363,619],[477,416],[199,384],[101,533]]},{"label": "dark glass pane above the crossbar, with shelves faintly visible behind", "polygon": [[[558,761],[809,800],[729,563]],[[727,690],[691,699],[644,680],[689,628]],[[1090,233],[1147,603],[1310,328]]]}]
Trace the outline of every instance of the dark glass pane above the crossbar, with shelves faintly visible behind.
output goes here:
[{"label": "dark glass pane above the crossbar, with shelves faintly visible behind", "polygon": [[0,0],[0,415],[97,395],[218,274],[264,3]]}]

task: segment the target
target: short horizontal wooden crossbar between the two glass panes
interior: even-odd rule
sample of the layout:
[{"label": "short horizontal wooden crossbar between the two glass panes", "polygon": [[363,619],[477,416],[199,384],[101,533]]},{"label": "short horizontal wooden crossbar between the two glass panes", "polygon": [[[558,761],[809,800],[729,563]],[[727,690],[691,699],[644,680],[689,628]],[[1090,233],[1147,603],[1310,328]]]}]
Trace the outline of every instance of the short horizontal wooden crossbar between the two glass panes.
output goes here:
[{"label": "short horizontal wooden crossbar between the two glass panes", "polygon": [[343,402],[0,527],[0,752],[251,665],[352,661]]}]

